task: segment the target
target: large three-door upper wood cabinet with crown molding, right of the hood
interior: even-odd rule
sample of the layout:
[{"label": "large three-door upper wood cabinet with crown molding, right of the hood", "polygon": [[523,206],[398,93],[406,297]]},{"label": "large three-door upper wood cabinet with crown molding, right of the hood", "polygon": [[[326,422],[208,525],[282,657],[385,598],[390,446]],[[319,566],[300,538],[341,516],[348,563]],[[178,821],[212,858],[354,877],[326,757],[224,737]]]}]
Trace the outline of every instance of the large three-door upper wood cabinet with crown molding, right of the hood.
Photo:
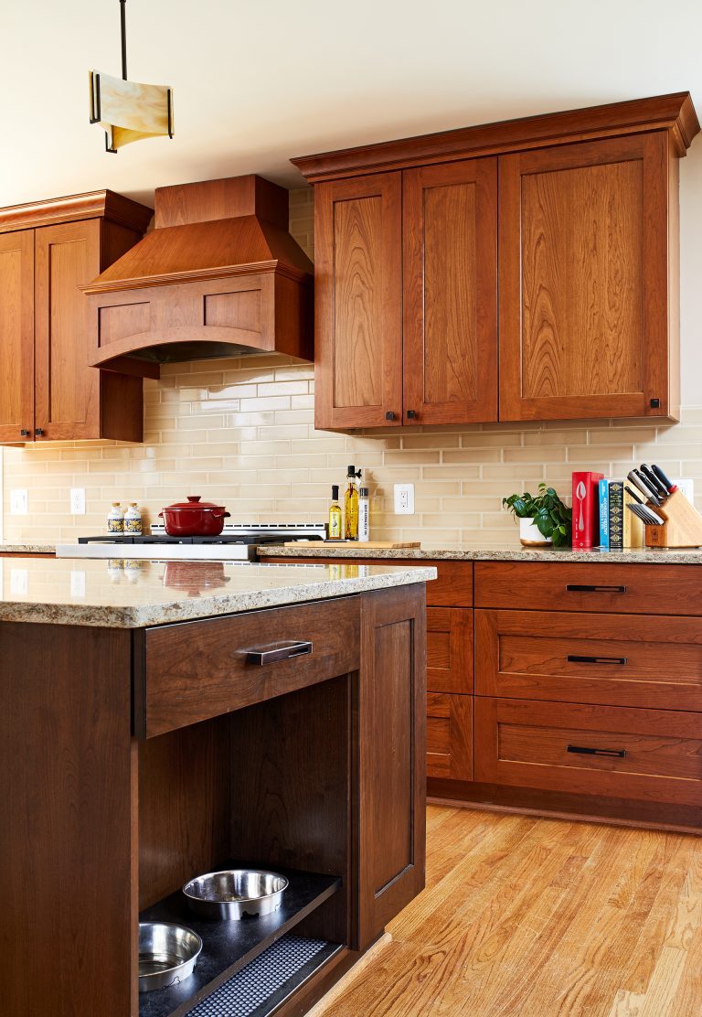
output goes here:
[{"label": "large three-door upper wood cabinet with crown molding, right of the hood", "polygon": [[315,185],[316,425],[676,419],[698,131],[680,93],[294,160]]}]

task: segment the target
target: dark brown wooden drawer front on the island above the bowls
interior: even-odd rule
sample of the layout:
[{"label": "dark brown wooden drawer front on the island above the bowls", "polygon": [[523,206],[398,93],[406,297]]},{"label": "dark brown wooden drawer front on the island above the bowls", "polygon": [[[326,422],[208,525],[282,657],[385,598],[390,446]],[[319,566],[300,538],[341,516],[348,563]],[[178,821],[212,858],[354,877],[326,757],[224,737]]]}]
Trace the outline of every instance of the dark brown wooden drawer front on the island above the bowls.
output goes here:
[{"label": "dark brown wooden drawer front on the island above the bowls", "polygon": [[[312,651],[249,662],[249,652],[286,642],[312,643]],[[148,738],[346,674],[359,666],[359,642],[358,597],[148,629],[136,734]]]}]

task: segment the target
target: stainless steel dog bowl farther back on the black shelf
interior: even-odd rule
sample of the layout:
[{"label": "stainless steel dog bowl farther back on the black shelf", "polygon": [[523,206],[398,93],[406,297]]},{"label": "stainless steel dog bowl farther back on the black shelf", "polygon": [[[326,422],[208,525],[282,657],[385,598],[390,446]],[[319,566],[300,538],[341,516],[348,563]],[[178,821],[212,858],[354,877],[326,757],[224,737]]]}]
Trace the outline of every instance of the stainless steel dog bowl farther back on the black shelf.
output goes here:
[{"label": "stainless steel dog bowl farther back on the black shelf", "polygon": [[227,869],[186,883],[190,908],[202,917],[238,920],[270,914],[280,907],[288,880],[258,869]]}]

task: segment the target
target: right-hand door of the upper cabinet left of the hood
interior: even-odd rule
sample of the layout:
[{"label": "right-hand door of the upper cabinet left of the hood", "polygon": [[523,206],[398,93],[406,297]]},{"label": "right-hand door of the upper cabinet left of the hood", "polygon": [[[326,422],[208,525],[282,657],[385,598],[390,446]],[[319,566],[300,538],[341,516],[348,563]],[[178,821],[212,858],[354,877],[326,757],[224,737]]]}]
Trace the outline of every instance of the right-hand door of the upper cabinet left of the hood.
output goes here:
[{"label": "right-hand door of the upper cabinet left of the hood", "polygon": [[37,427],[49,439],[98,437],[95,324],[80,287],[100,272],[101,223],[37,230]]}]

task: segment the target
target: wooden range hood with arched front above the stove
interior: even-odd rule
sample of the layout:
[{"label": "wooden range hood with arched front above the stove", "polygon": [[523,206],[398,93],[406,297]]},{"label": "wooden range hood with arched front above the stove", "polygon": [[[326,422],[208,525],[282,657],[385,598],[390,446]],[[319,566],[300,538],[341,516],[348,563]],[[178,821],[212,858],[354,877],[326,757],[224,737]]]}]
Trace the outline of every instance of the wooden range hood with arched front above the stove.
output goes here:
[{"label": "wooden range hood with arched front above the stove", "polygon": [[314,266],[288,232],[288,191],[254,175],[161,187],[154,228],[84,288],[94,367],[251,353],[313,359]]}]

